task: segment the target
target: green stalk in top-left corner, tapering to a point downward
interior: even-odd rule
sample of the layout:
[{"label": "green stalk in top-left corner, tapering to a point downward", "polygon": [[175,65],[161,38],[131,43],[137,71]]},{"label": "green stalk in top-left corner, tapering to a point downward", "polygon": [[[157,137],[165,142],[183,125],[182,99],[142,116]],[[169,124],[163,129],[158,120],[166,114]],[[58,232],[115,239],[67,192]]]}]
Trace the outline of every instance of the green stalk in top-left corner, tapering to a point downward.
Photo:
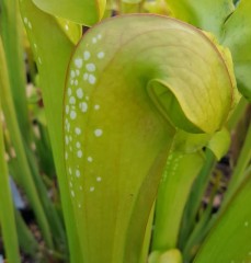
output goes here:
[{"label": "green stalk in top-left corner, tapering to a point downward", "polygon": [[25,69],[22,46],[23,27],[18,0],[1,0],[0,8],[0,35],[2,36],[5,52],[11,93],[20,130],[27,142],[31,136],[31,128],[25,95]]}]

